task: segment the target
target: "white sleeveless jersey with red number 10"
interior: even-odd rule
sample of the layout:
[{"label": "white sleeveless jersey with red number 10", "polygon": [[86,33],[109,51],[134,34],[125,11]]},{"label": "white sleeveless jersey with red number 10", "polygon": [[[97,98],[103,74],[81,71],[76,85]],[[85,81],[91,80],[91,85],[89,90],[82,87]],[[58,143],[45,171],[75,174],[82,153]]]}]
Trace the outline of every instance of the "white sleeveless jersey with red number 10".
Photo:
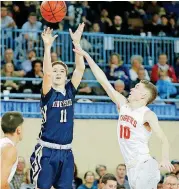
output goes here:
[{"label": "white sleeveless jersey with red number 10", "polygon": [[137,162],[146,161],[149,155],[148,141],[151,132],[144,127],[144,114],[149,111],[146,106],[132,110],[128,104],[120,108],[118,121],[118,141],[125,164],[128,168]]}]

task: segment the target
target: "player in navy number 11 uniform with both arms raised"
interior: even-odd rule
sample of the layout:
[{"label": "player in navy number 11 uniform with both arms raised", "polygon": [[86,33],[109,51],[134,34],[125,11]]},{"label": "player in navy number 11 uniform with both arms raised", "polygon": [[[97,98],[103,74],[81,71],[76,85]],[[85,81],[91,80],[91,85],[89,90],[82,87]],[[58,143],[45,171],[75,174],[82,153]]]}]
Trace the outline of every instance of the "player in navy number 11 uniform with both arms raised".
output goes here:
[{"label": "player in navy number 11 uniform with both arms raised", "polygon": [[[79,46],[84,23],[70,35],[74,46]],[[52,29],[42,33],[44,42],[43,84],[41,96],[42,128],[38,144],[32,154],[31,179],[37,188],[71,189],[74,175],[73,139],[74,101],[85,64],[83,56],[76,54],[76,68],[66,84],[68,68],[61,61],[51,62],[50,50],[57,35]]]}]

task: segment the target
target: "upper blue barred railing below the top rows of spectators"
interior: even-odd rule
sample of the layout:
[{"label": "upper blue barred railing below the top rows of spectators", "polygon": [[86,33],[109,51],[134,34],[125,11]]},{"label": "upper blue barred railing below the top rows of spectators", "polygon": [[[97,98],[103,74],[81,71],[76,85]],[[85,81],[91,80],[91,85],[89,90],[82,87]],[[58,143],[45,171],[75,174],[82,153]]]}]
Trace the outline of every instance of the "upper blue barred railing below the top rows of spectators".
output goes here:
[{"label": "upper blue barred railing below the top rows of spectators", "polygon": [[[37,57],[43,57],[42,31],[24,31],[22,29],[1,29],[1,54],[6,48],[14,50],[15,61],[26,59],[29,49],[36,51]],[[24,34],[30,34],[27,42]],[[60,59],[67,64],[74,62],[73,45],[68,32],[54,31],[58,38],[53,44],[53,51],[57,52]],[[119,53],[125,64],[130,64],[132,55],[144,57],[144,65],[152,66],[161,53],[166,53],[169,64],[174,64],[176,54],[179,53],[179,38],[172,37],[142,37],[132,35],[113,35],[103,33],[84,33],[81,46],[99,64],[105,66],[112,53]]]}]

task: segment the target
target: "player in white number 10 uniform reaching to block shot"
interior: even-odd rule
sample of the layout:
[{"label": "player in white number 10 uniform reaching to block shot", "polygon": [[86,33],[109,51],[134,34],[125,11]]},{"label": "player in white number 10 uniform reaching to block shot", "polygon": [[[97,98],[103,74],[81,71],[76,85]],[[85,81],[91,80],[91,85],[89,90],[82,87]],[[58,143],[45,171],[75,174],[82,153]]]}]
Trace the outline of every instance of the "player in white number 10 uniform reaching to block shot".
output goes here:
[{"label": "player in white number 10 uniform reaching to block shot", "polygon": [[[149,81],[143,80],[131,89],[126,99],[112,87],[104,72],[88,53],[81,48],[75,48],[74,52],[86,58],[96,79],[118,107],[120,113],[117,129],[118,141],[131,188],[156,189],[160,181],[160,166],[168,171],[174,169],[169,161],[168,140],[159,126],[156,114],[147,107],[157,96],[156,87]],[[152,131],[162,142],[160,166],[149,154],[148,142]]]}]

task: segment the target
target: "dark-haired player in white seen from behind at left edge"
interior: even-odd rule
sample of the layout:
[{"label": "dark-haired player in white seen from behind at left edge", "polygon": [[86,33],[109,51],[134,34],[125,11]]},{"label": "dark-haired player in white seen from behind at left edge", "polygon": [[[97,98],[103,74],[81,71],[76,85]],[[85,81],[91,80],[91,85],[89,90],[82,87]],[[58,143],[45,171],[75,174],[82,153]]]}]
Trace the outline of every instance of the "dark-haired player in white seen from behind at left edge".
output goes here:
[{"label": "dark-haired player in white seen from behind at left edge", "polygon": [[19,112],[6,112],[1,119],[1,129],[4,137],[0,139],[0,188],[10,189],[17,168],[18,156],[16,145],[22,140],[22,124],[24,119]]}]

